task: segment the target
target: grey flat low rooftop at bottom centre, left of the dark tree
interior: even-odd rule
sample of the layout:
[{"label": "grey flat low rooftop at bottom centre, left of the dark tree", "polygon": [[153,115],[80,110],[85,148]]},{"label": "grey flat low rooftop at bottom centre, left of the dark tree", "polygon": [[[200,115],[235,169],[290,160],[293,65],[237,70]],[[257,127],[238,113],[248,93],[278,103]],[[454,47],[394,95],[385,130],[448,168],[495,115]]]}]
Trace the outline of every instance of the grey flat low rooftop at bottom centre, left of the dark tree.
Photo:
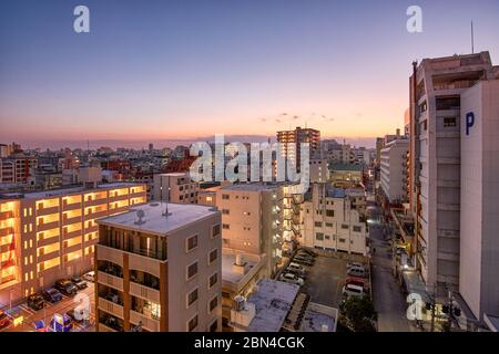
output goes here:
[{"label": "grey flat low rooftop at bottom centre, left of the dark tree", "polygon": [[278,332],[299,287],[272,279],[262,279],[257,287],[257,291],[247,299],[256,310],[247,332]]}]

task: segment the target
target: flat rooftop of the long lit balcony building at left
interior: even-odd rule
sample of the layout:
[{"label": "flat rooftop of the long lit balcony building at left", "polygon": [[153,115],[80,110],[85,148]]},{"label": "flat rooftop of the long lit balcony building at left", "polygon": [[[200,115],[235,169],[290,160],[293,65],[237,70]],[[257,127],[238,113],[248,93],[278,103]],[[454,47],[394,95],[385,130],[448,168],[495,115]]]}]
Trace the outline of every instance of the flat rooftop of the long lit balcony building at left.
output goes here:
[{"label": "flat rooftop of the long lit balcony building at left", "polygon": [[123,188],[123,187],[133,187],[141,186],[142,183],[112,183],[112,184],[101,184],[98,185],[96,188],[89,188],[85,186],[73,186],[68,188],[58,188],[58,189],[48,189],[48,190],[38,190],[38,191],[10,191],[10,192],[0,192],[0,198],[6,199],[42,199],[42,198],[51,198],[59,197],[64,195],[92,191],[96,189],[112,189],[112,188]]}]

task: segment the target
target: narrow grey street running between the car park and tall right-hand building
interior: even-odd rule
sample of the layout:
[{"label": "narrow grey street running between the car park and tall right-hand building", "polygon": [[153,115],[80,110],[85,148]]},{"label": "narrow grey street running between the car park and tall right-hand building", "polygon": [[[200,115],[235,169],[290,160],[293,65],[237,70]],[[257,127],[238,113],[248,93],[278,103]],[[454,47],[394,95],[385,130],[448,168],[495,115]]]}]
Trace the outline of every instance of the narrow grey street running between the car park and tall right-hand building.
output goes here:
[{"label": "narrow grey street running between the car park and tall right-hand building", "polygon": [[389,236],[385,236],[379,223],[380,210],[370,204],[373,222],[369,227],[371,247],[376,249],[373,256],[373,298],[378,313],[379,332],[415,331],[406,317],[407,304],[391,274],[391,254],[388,244]]}]

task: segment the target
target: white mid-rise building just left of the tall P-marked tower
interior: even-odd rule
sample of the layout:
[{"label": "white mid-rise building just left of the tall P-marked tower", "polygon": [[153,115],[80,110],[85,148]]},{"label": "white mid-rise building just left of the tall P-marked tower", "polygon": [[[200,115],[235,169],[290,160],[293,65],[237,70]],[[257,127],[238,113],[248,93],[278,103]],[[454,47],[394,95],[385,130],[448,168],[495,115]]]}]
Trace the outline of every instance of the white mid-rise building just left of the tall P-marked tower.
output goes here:
[{"label": "white mid-rise building just left of the tall P-marked tower", "polygon": [[407,199],[407,153],[409,140],[397,139],[388,143],[380,153],[380,183],[390,202]]}]

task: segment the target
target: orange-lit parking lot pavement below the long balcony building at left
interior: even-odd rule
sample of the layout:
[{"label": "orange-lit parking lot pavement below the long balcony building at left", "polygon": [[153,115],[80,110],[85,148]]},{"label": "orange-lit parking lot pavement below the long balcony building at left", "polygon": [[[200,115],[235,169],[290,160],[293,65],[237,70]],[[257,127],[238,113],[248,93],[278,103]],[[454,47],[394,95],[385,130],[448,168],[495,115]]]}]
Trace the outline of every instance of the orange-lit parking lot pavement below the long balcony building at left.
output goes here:
[{"label": "orange-lit parking lot pavement below the long balcony building at left", "polygon": [[[90,303],[90,317],[89,321],[82,322],[82,323],[74,323],[73,331],[74,332],[93,332],[94,331],[94,313],[93,309],[95,305],[95,296],[94,296],[94,284],[91,282],[88,282],[88,288],[84,290],[79,291],[79,293],[75,296],[67,296],[62,295],[62,300],[57,303],[50,303],[48,301],[43,301],[44,306],[42,310],[34,311],[33,309],[29,308],[28,304],[21,303],[19,309],[21,310],[21,315],[23,316],[22,324],[19,324],[17,326],[10,325],[7,329],[1,330],[1,332],[31,332],[34,331],[33,322],[43,320],[45,322],[45,325],[50,323],[53,315],[55,313],[58,314],[64,314],[68,311],[77,308],[78,305],[83,304],[85,299],[88,299]],[[82,296],[83,295],[83,296]],[[4,309],[7,310],[7,309]]]}]

